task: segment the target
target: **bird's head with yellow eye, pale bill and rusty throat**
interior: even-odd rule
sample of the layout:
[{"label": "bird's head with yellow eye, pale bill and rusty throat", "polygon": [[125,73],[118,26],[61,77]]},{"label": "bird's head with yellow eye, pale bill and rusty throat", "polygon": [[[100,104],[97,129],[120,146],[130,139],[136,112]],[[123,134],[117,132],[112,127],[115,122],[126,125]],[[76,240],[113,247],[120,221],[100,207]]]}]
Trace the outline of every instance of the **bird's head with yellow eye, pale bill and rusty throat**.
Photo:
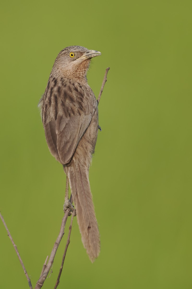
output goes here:
[{"label": "bird's head with yellow eye, pale bill and rusty throat", "polygon": [[52,69],[52,75],[77,81],[86,80],[90,60],[98,55],[101,55],[100,51],[89,50],[82,46],[66,47],[58,54]]}]

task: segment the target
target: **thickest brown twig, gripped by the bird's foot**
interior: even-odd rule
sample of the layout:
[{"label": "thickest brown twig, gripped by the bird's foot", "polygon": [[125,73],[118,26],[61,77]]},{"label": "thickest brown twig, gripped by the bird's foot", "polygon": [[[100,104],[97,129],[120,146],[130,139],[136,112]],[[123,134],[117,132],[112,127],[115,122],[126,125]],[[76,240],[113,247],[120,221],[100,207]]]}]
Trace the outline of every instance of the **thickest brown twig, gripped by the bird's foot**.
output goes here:
[{"label": "thickest brown twig, gripped by the bird's foot", "polygon": [[[71,195],[70,197],[70,200],[69,200],[71,203],[73,203],[73,197]],[[67,209],[65,211],[65,214],[64,214],[64,217],[62,218],[62,223],[61,223],[61,228],[60,228],[60,232],[59,232],[59,235],[57,237],[57,240],[54,244],[54,247],[52,249],[52,252],[51,252],[51,255],[50,255],[50,258],[49,258],[49,261],[47,263],[47,265],[45,266],[45,270],[44,272],[41,274],[39,280],[37,281],[37,284],[35,286],[35,289],[40,289],[42,286],[43,286],[43,283],[45,281],[45,279],[47,278],[47,275],[51,269],[51,266],[53,264],[53,260],[54,260],[54,257],[56,255],[56,252],[57,252],[57,249],[59,247],[59,244],[60,244],[60,241],[64,235],[64,229],[65,229],[65,224],[66,224],[66,221],[67,221],[67,218],[69,216],[69,209]]]}]

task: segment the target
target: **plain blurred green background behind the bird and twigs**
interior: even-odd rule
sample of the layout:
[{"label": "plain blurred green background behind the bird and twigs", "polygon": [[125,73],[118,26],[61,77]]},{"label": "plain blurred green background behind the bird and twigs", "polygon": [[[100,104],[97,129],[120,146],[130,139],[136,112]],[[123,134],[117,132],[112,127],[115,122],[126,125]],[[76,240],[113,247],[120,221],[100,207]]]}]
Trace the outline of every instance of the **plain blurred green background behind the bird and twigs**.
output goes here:
[{"label": "plain blurred green background behind the bird and twigs", "polygon": [[[37,103],[57,54],[102,52],[88,83],[99,124],[90,184],[101,235],[91,264],[73,223],[58,288],[192,288],[191,1],[1,4],[0,210],[35,288],[63,216],[65,175]],[[66,244],[69,220],[53,273]],[[0,222],[0,287],[28,288]]]}]

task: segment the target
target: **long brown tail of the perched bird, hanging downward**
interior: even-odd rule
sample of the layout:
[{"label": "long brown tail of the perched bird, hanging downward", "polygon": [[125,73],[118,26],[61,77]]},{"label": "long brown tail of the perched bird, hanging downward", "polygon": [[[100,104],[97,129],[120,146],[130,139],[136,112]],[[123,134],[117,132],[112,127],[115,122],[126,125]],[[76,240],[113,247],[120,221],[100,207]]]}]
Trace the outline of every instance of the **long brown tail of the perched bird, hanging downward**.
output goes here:
[{"label": "long brown tail of the perched bird, hanging downward", "polygon": [[100,236],[90,190],[89,172],[79,166],[70,166],[68,177],[83,246],[90,260],[94,262],[100,252]]}]

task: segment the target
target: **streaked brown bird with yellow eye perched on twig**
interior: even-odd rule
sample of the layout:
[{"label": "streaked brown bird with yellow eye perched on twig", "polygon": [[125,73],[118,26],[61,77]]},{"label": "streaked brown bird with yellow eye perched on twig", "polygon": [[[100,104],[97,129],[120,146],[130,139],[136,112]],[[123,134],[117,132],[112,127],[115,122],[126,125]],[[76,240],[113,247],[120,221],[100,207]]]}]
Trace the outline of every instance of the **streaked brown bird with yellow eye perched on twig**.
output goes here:
[{"label": "streaked brown bird with yellow eye perched on twig", "polygon": [[[92,262],[100,253],[100,234],[89,183],[89,168],[98,135],[98,103],[88,85],[90,60],[100,51],[69,46],[58,54],[39,101],[50,153],[66,174],[64,210],[70,185],[81,240]],[[71,212],[70,211],[70,212]]]}]

